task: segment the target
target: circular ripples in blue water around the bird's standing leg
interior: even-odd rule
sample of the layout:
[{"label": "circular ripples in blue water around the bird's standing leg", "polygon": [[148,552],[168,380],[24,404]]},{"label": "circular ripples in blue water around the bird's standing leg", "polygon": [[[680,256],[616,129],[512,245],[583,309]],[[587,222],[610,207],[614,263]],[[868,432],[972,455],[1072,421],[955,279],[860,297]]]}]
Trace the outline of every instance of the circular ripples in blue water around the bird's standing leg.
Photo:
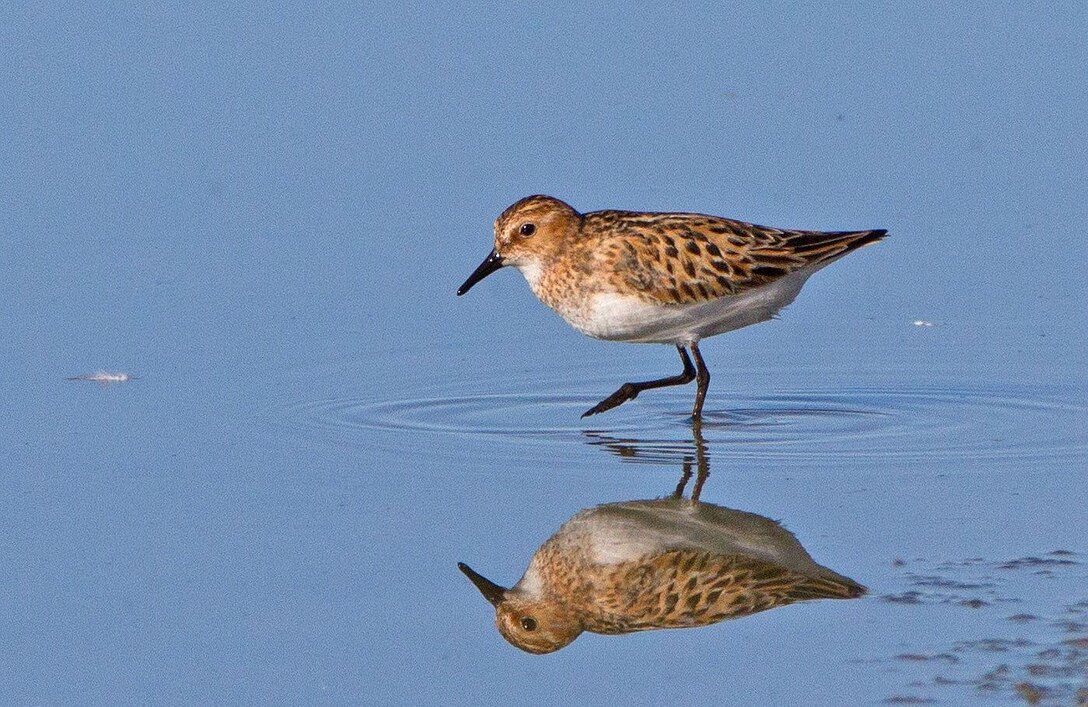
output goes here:
[{"label": "circular ripples in blue water around the bird's standing leg", "polygon": [[[578,439],[650,463],[673,463],[693,448],[691,421],[679,412],[690,405],[682,395],[658,392],[607,417],[582,420],[593,394],[435,393],[399,400],[310,400],[275,417],[306,434],[360,444],[373,432],[505,447]],[[702,432],[707,444],[739,459],[1072,460],[1088,457],[1085,400],[1076,389],[1022,385],[732,394],[726,409],[705,413]]]}]

